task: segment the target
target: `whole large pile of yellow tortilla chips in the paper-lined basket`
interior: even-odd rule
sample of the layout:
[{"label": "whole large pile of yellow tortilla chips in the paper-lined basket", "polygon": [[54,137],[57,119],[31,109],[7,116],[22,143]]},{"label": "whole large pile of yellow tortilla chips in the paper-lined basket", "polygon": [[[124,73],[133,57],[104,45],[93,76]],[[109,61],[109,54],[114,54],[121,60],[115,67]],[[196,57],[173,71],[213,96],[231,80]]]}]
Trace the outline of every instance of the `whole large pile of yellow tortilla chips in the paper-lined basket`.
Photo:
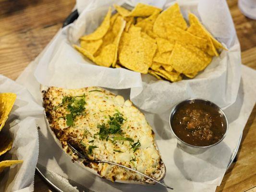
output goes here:
[{"label": "whole large pile of yellow tortilla chips in the paper-lined basket", "polygon": [[114,8],[93,33],[80,38],[80,46],[74,45],[97,65],[177,82],[194,78],[226,49],[193,13],[188,25],[177,3],[164,11],[143,3],[131,11]]}]

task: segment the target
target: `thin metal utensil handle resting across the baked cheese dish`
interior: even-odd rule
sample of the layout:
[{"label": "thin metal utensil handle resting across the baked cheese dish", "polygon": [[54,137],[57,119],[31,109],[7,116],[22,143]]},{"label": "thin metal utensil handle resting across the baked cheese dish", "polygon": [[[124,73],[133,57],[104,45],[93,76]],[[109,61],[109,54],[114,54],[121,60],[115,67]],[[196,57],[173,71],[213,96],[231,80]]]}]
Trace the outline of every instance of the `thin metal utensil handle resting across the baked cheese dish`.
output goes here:
[{"label": "thin metal utensil handle resting across the baked cheese dish", "polygon": [[147,179],[153,180],[153,181],[157,182],[158,184],[160,184],[160,185],[162,185],[162,186],[164,186],[164,187],[166,187],[166,188],[168,188],[168,189],[172,189],[172,190],[173,190],[173,188],[169,187],[169,186],[166,185],[165,183],[161,183],[160,181],[155,180],[155,179],[153,179],[153,178],[151,178],[151,177],[149,177],[149,176],[147,176],[147,175],[145,175],[145,174],[143,174],[143,173],[141,173],[141,172],[139,172],[139,171],[137,171],[137,170],[135,170],[135,169],[133,169],[133,168],[128,168],[128,167],[126,167],[126,166],[123,166],[123,165],[120,165],[120,164],[118,164],[118,163],[114,163],[114,162],[111,162],[111,161],[105,161],[105,160],[91,160],[91,159],[89,159],[87,156],[85,156],[85,155],[83,155],[82,153],[80,153],[80,152],[79,152],[72,144],[70,144],[69,142],[68,142],[68,145],[69,145],[69,147],[72,149],[72,151],[73,151],[74,153],[76,153],[80,158],[87,159],[87,160],[89,160],[89,161],[96,162],[96,163],[108,163],[108,164],[112,164],[112,165],[119,166],[119,167],[121,167],[121,168],[126,168],[126,169],[131,170],[131,171],[134,171],[134,172],[136,172],[136,173],[138,173],[138,174],[140,174],[140,175],[143,175],[143,176],[146,177]]}]

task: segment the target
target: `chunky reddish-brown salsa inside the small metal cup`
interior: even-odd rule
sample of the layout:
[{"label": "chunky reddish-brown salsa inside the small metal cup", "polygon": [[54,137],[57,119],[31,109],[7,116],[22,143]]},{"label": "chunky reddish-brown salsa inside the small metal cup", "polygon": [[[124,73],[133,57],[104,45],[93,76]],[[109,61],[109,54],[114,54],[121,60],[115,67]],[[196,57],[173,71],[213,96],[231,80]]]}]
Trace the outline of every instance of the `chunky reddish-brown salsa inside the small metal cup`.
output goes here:
[{"label": "chunky reddish-brown salsa inside the small metal cup", "polygon": [[223,114],[214,106],[191,101],[175,111],[171,128],[187,144],[208,146],[224,136],[227,124]]}]

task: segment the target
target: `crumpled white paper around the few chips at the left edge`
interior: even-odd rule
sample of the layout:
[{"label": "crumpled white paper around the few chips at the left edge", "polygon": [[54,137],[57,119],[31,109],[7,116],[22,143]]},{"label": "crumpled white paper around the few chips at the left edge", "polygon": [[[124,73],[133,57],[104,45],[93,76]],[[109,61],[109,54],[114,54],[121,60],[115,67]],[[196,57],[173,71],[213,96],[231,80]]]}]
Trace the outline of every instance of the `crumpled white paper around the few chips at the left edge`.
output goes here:
[{"label": "crumpled white paper around the few chips at the left edge", "polygon": [[[7,168],[0,174],[1,192],[32,192],[38,158],[38,133],[35,116],[42,115],[43,108],[21,85],[0,75],[0,92],[17,94],[16,101],[1,132],[11,133],[12,149],[4,160],[24,160],[22,164]],[[33,116],[33,117],[32,117]]]}]

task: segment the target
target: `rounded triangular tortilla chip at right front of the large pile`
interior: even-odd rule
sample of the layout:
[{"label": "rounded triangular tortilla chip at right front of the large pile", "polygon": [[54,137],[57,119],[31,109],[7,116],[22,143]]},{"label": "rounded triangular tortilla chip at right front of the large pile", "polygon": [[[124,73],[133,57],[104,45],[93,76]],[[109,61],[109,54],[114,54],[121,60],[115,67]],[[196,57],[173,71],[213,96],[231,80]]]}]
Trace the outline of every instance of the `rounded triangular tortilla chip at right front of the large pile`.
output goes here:
[{"label": "rounded triangular tortilla chip at right front of the large pile", "polygon": [[205,69],[211,59],[211,56],[199,48],[175,43],[170,63],[177,72],[190,74]]}]

